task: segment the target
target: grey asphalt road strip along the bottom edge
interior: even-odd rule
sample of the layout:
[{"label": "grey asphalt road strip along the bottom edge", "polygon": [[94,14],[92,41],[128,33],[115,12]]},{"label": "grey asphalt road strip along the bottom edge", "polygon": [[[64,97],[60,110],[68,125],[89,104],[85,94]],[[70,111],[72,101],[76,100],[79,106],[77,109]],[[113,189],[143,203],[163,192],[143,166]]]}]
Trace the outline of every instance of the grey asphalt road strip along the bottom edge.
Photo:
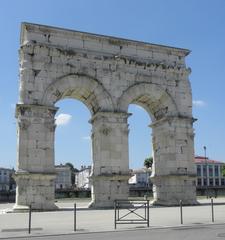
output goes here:
[{"label": "grey asphalt road strip along the bottom edge", "polygon": [[[30,237],[19,238],[28,240]],[[101,233],[75,233],[59,236],[35,236],[35,240],[219,240],[225,239],[225,224],[182,226],[162,229],[135,229]]]}]

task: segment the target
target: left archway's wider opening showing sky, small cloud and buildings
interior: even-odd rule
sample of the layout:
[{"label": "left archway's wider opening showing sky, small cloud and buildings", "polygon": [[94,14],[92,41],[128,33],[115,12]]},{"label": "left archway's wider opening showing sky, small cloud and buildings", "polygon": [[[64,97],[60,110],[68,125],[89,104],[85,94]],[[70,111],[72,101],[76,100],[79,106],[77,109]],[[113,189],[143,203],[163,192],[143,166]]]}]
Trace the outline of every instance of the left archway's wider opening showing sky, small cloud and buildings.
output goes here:
[{"label": "left archway's wider opening showing sky, small cloud and buildings", "polygon": [[93,163],[88,123],[91,113],[77,99],[63,99],[56,106],[59,108],[55,117],[56,196],[63,190],[72,196],[79,196],[79,191],[85,190],[89,196],[90,182],[83,175],[91,171]]}]

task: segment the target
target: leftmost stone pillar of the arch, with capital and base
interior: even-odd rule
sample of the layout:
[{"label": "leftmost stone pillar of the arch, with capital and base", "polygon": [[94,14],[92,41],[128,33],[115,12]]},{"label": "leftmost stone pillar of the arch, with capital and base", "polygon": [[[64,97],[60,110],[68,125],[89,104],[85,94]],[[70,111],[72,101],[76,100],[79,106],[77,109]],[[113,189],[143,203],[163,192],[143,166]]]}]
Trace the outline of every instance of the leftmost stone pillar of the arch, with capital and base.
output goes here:
[{"label": "leftmost stone pillar of the arch, with capital and base", "polygon": [[54,116],[57,108],[18,104],[15,211],[55,209]]}]

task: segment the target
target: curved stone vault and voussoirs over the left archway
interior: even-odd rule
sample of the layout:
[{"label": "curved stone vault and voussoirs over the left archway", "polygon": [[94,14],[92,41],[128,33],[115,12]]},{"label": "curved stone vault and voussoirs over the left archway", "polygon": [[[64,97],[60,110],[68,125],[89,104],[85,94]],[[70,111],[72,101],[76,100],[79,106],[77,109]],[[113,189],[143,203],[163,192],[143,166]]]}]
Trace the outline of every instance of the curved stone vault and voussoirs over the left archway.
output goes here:
[{"label": "curved stone vault and voussoirs over the left archway", "polygon": [[113,111],[113,102],[103,85],[85,74],[69,74],[62,76],[44,91],[41,105],[53,106],[58,100],[75,98],[83,102],[91,114],[98,111]]}]

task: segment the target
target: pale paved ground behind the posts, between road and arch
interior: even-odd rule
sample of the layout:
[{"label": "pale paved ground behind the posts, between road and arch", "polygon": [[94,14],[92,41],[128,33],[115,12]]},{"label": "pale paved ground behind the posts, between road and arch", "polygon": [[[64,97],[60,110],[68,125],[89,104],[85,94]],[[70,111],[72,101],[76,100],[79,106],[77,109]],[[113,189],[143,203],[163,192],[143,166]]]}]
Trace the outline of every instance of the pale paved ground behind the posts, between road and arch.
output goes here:
[{"label": "pale paved ground behind the posts, between road and arch", "polygon": [[[88,201],[76,202],[78,206],[78,233],[114,231],[114,210],[90,210],[87,208]],[[33,212],[31,235],[42,236],[74,233],[73,203],[72,201],[58,202],[57,205],[60,211]],[[183,223],[185,226],[201,228],[202,224],[212,223],[210,200],[202,199],[200,203],[200,206],[183,207]],[[214,199],[214,203],[219,204],[214,206],[215,223],[223,224],[225,223],[225,198]],[[12,204],[0,204],[0,239],[29,236],[27,233],[28,214],[5,213],[5,210],[12,208],[12,206]],[[138,214],[143,214],[143,209],[138,211]],[[121,214],[126,213],[127,210],[121,212]],[[142,228],[145,228],[147,231],[158,228],[180,227],[180,223],[179,207],[151,207],[150,228],[146,228],[145,225],[118,225],[117,230],[143,230]]]}]

